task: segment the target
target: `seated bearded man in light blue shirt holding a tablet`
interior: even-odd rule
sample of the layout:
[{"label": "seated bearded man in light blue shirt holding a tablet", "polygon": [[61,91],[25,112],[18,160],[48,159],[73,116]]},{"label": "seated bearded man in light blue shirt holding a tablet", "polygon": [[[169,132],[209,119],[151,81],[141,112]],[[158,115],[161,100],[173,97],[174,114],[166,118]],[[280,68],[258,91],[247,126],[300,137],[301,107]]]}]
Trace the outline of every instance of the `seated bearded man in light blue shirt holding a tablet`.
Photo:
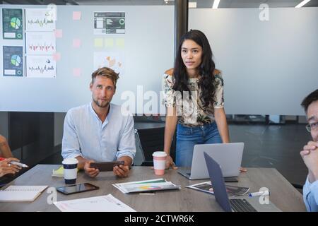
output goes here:
[{"label": "seated bearded man in light blue shirt holding a tablet", "polygon": [[114,160],[124,161],[114,167],[114,174],[127,177],[136,154],[133,117],[110,103],[118,78],[118,73],[106,67],[94,71],[90,83],[93,101],[70,109],[64,120],[61,155],[76,157],[78,169],[90,177],[99,174],[98,169],[90,168],[90,162]]}]

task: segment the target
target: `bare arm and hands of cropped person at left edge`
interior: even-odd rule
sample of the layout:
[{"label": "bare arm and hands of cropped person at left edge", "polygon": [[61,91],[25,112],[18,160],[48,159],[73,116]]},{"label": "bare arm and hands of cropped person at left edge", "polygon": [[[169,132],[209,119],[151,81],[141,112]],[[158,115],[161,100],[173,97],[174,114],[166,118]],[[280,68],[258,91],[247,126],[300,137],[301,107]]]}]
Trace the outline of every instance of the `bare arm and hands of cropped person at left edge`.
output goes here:
[{"label": "bare arm and hands of cropped person at left edge", "polygon": [[21,167],[11,164],[11,161],[19,160],[13,157],[6,138],[0,135],[0,177],[20,171]]}]

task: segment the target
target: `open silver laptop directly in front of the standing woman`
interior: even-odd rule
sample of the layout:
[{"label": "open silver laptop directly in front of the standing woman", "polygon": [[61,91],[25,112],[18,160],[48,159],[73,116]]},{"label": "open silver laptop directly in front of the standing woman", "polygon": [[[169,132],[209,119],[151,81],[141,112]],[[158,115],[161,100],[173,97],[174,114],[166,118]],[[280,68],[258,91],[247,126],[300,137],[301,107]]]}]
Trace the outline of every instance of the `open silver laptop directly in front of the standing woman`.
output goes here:
[{"label": "open silver laptop directly in front of the standing woman", "polygon": [[[194,145],[191,169],[178,169],[188,179],[209,179],[204,161],[204,151],[220,162],[224,177],[240,174],[244,143],[209,143]],[[230,182],[230,181],[229,181]]]}]

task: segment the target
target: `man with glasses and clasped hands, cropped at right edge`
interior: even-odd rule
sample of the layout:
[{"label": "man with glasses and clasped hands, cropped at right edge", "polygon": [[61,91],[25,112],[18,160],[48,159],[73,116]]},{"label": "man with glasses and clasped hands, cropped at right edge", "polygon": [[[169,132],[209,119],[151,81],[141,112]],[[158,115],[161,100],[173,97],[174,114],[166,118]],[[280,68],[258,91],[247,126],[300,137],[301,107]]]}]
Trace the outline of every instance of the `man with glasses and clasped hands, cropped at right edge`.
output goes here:
[{"label": "man with glasses and clasped hands, cropped at right edge", "polygon": [[318,211],[318,90],[310,93],[302,101],[307,114],[307,131],[312,140],[300,152],[302,160],[308,168],[308,177],[303,188],[303,196],[308,211]]}]

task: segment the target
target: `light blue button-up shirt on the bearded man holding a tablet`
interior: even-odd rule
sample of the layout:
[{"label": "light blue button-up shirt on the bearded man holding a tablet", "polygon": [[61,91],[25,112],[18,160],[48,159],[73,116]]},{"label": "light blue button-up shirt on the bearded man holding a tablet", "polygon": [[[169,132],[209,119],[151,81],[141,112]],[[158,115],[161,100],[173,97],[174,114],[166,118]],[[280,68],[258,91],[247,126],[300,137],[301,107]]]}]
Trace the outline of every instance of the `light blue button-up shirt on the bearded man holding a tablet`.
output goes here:
[{"label": "light blue button-up shirt on the bearded man holding a tablet", "polygon": [[134,119],[123,115],[120,106],[110,104],[104,123],[92,103],[67,112],[61,151],[64,158],[82,156],[95,162],[108,162],[122,156],[134,160],[135,154]]}]

